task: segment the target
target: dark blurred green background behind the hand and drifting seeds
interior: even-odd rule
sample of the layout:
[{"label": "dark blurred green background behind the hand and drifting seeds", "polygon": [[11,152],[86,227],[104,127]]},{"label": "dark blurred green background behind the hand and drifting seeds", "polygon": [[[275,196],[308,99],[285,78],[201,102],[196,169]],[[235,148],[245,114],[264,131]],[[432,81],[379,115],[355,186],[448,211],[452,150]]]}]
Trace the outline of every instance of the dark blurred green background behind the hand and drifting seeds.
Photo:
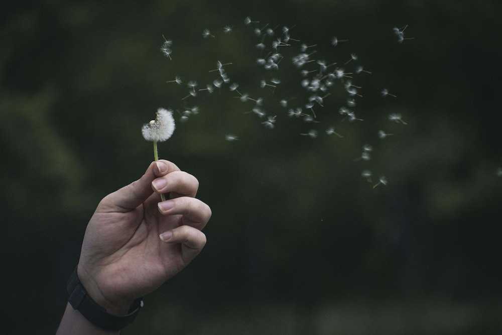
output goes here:
[{"label": "dark blurred green background behind the hand and drifting seeds", "polygon": [[[54,333],[87,221],[153,159],[140,130],[165,107],[177,130],[160,156],[198,178],[213,216],[204,251],[145,297],[124,333],[499,334],[501,14],[495,0],[8,1],[4,326]],[[247,16],[260,23],[244,25]],[[266,24],[268,49],[283,26],[300,40],[280,48],[278,70],[256,64],[267,51],[253,29]],[[398,43],[393,28],[406,25],[414,39]],[[172,60],[160,52],[163,35]],[[332,46],[333,36],[348,41]],[[352,109],[364,121],[338,113],[339,82],[314,107],[315,123],[278,105],[312,94],[291,62],[302,43],[315,45],[311,59],[337,62],[331,71],[372,72],[352,75],[363,95]],[[351,53],[358,59],[344,65]],[[232,63],[224,68],[242,93],[263,97],[274,129],[228,85],[182,99],[188,80],[200,89],[217,77],[216,61]],[[176,75],[182,85],[166,83]],[[275,89],[259,87],[273,77]],[[195,105],[199,114],[181,122]],[[317,138],[300,135],[310,129]],[[379,130],[394,135],[381,140]],[[357,159],[365,144],[369,161]],[[388,185],[373,188],[379,176]]]}]

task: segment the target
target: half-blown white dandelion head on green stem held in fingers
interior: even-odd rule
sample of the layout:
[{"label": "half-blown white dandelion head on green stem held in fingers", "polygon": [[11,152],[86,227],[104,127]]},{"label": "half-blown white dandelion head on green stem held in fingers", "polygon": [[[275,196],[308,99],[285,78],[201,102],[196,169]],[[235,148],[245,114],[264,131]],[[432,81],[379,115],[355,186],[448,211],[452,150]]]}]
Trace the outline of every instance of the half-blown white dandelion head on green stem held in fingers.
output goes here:
[{"label": "half-blown white dandelion head on green stem held in fingers", "polygon": [[[154,143],[154,159],[159,160],[157,142],[167,141],[174,133],[175,123],[173,111],[165,108],[157,109],[155,120],[150,121],[141,129],[145,140]],[[161,194],[162,201],[166,200],[164,194]]]}]

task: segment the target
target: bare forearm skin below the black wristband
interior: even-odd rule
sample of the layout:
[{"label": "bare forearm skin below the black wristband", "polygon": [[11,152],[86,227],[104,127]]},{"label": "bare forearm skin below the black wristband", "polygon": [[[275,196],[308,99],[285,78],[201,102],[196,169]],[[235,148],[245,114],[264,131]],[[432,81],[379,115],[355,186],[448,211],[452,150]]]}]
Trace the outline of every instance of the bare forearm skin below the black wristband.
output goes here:
[{"label": "bare forearm skin below the black wristband", "polygon": [[104,330],[90,323],[78,310],[67,303],[56,335],[113,335],[120,334],[120,330]]}]

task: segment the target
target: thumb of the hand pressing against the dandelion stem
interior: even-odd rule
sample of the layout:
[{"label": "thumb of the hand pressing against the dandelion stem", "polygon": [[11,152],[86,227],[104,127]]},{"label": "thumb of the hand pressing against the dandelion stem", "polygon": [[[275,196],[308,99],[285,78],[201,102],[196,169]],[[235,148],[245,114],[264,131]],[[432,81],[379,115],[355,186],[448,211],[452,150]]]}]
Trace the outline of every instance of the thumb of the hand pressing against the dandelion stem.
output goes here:
[{"label": "thumb of the hand pressing against the dandelion stem", "polygon": [[108,194],[101,200],[100,206],[111,207],[113,211],[129,211],[139,205],[152,195],[152,181],[166,174],[179,171],[179,168],[166,160],[158,160],[150,163],[147,171],[140,179],[124,186],[117,191]]}]

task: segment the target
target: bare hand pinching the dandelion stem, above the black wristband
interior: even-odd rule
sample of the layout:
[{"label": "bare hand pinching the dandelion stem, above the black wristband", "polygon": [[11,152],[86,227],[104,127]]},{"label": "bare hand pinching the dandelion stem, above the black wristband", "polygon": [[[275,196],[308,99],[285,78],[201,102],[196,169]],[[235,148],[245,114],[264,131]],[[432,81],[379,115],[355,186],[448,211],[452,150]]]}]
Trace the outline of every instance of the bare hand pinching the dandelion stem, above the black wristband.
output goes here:
[{"label": "bare hand pinching the dandelion stem, above the black wristband", "polygon": [[[85,232],[77,274],[112,314],[180,272],[206,243],[211,209],[195,198],[197,179],[159,160],[137,181],[104,197]],[[160,202],[159,193],[168,193]],[[169,196],[167,196],[169,195]]]}]

